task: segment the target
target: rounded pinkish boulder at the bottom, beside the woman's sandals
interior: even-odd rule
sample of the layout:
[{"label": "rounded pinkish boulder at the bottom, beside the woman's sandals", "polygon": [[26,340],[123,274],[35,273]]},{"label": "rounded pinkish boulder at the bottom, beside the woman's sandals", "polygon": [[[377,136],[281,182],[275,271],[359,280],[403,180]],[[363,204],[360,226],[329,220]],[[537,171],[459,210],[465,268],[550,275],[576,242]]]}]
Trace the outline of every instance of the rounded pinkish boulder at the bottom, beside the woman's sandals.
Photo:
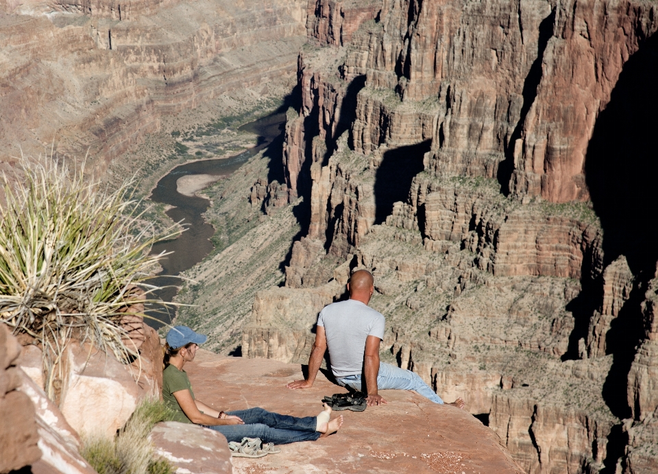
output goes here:
[{"label": "rounded pinkish boulder at the bottom, beside the woman's sandals", "polygon": [[158,455],[184,474],[230,474],[231,452],[223,434],[188,423],[167,421],[151,431]]}]

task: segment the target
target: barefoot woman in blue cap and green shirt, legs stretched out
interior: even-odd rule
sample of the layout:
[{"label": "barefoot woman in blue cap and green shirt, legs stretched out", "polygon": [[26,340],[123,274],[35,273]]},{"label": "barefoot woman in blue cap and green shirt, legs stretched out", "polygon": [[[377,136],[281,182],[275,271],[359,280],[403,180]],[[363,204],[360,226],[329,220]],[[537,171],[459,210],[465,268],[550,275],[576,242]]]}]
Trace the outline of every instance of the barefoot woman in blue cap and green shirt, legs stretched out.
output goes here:
[{"label": "barefoot woman in blue cap and green shirt, legs stretched out", "polygon": [[[204,425],[226,436],[229,442],[241,442],[243,438],[260,438],[265,451],[273,450],[273,445],[289,442],[317,440],[328,436],[343,424],[343,417],[330,420],[331,407],[317,416],[297,418],[268,412],[263,408],[218,412],[195,399],[190,379],[183,366],[192,362],[199,344],[208,337],[197,334],[186,326],[176,326],[167,333],[164,346],[164,371],[162,372],[162,398],[175,413],[174,420],[181,423]],[[236,445],[232,445],[234,448]],[[254,453],[256,454],[256,453]]]}]

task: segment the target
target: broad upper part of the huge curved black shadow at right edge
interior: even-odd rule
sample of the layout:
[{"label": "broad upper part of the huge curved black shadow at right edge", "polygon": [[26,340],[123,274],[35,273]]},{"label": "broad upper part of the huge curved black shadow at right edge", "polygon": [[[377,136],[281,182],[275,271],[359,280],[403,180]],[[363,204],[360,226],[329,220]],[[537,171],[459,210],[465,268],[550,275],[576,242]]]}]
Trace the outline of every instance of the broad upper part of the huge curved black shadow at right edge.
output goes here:
[{"label": "broad upper part of the huge curved black shadow at right edge", "polygon": [[625,255],[634,275],[653,274],[658,182],[658,35],[624,64],[587,147],[585,180],[603,228],[605,265]]}]

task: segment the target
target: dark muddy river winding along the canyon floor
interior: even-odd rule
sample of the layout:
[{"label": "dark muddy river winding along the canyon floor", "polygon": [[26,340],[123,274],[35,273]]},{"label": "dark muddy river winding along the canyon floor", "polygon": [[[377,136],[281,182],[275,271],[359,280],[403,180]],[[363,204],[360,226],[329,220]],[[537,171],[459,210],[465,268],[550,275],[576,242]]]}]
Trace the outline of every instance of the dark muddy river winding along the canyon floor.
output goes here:
[{"label": "dark muddy river winding along the canyon floor", "polygon": [[[171,302],[178,292],[178,286],[182,283],[181,279],[175,278],[176,275],[192,268],[199,263],[213,250],[210,237],[215,234],[215,228],[204,220],[203,213],[206,212],[210,201],[198,196],[187,196],[178,192],[177,182],[182,176],[206,174],[210,176],[230,176],[236,169],[239,169],[249,158],[266,148],[273,139],[278,137],[284,128],[286,121],[285,113],[275,113],[263,117],[253,122],[245,123],[239,130],[252,132],[258,135],[256,146],[245,150],[244,152],[231,156],[230,158],[212,159],[186,163],[172,169],[167,176],[164,176],[158,185],[151,192],[151,200],[162,202],[173,206],[167,215],[174,222],[182,221],[186,227],[184,233],[178,239],[159,242],[154,245],[151,253],[157,254],[164,251],[173,252],[160,261],[162,272],[155,279],[149,280],[148,283],[160,287],[166,287],[156,293],[157,297],[163,301]],[[170,323],[175,316],[175,309],[147,309],[149,316],[158,318],[163,322]],[[147,319],[152,327],[158,329],[161,327],[157,321]]]}]

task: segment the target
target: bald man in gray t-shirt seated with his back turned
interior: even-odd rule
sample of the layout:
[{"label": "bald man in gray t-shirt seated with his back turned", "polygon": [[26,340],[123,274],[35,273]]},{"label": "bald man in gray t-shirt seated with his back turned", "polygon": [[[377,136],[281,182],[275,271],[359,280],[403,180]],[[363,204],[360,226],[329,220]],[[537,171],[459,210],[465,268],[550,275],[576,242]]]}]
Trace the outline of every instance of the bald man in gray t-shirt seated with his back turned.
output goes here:
[{"label": "bald man in gray t-shirt seated with his back turned", "polygon": [[[320,368],[324,352],[329,348],[331,369],[337,382],[354,390],[361,390],[362,369],[367,389],[367,403],[387,403],[378,390],[415,390],[434,403],[443,400],[411,370],[384,364],[379,360],[379,344],[384,337],[384,316],[368,303],[374,292],[374,280],[367,270],[352,274],[348,283],[350,299],[324,307],[317,318],[315,344],[308,359],[308,377],[287,385],[293,390],[310,388]],[[458,408],[464,401],[456,399],[450,403]]]}]

